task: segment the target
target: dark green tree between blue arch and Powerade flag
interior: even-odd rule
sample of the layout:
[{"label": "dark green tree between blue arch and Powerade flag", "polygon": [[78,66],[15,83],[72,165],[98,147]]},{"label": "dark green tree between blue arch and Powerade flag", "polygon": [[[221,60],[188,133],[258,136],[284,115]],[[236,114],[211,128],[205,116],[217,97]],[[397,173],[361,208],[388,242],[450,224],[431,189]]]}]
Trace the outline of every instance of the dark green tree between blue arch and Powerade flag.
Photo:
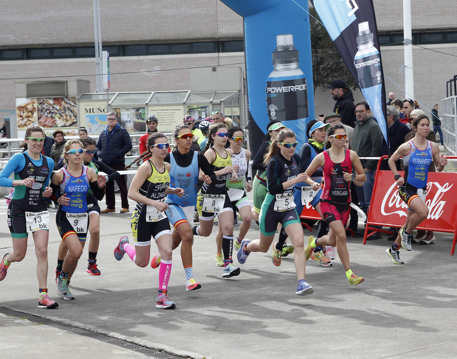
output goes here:
[{"label": "dark green tree between blue arch and Powerade flag", "polygon": [[[309,13],[316,19],[319,19],[314,8],[310,7]],[[327,89],[325,86],[331,84],[335,79],[344,79],[348,87],[352,89],[357,88],[357,83],[349,72],[325,27],[311,16],[309,23],[311,28],[314,91],[317,88]]]}]

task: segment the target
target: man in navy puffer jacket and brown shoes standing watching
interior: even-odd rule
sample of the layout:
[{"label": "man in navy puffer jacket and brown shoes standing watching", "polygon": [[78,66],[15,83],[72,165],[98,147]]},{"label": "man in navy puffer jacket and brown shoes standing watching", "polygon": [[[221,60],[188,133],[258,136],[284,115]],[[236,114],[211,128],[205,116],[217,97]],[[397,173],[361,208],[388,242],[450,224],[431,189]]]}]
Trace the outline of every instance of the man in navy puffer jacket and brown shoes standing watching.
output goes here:
[{"label": "man in navy puffer jacket and brown shoes standing watching", "polygon": [[[125,128],[117,123],[115,112],[109,112],[106,116],[108,126],[100,134],[97,141],[96,150],[99,159],[105,162],[114,170],[123,171],[125,168],[125,154],[132,149],[132,141]],[[117,180],[120,189],[122,209],[120,213],[128,212],[127,183],[126,176],[120,176]],[[106,184],[106,209],[101,213],[116,212],[114,183],[112,181]]]}]

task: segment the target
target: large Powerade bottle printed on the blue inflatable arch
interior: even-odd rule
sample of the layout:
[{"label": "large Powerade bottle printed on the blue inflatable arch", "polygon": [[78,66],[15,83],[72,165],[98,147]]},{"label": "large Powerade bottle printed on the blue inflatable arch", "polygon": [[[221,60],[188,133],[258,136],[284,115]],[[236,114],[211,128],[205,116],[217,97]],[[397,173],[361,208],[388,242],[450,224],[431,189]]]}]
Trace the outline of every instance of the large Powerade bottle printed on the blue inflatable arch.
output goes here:
[{"label": "large Powerade bottle printed on the blue inflatable arch", "polygon": [[299,69],[298,50],[292,34],[276,36],[272,53],[274,71],[267,78],[267,110],[270,120],[288,121],[308,117],[308,86]]}]

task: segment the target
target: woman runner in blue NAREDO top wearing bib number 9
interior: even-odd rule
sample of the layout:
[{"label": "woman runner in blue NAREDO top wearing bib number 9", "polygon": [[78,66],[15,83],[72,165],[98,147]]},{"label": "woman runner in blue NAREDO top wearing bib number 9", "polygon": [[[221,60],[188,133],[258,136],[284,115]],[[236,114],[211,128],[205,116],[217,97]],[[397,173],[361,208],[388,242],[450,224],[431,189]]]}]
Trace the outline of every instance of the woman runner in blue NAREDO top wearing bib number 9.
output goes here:
[{"label": "woman runner in blue NAREDO top wearing bib number 9", "polygon": [[[96,175],[92,169],[83,165],[83,153],[81,141],[68,141],[63,147],[65,166],[52,176],[53,187],[58,187],[62,194],[57,199],[60,206],[55,222],[62,242],[68,249],[57,278],[57,294],[65,300],[75,299],[69,285],[86,242],[87,193],[91,189],[99,201],[105,195],[105,176]],[[59,248],[60,251],[64,252],[64,249]]]}]

